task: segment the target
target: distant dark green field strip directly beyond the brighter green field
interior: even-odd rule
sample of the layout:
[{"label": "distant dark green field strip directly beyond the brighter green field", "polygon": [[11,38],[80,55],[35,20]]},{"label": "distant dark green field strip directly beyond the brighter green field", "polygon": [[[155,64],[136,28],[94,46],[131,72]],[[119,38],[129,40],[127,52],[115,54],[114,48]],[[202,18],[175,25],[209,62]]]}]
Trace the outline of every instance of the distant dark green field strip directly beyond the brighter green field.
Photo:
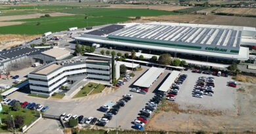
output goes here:
[{"label": "distant dark green field strip directly beyond the brighter green field", "polygon": [[130,17],[130,16],[160,16],[178,14],[164,10],[140,9],[140,8],[75,8],[55,10],[56,12],[66,12],[74,14],[87,14],[89,16],[114,16],[114,17]]}]

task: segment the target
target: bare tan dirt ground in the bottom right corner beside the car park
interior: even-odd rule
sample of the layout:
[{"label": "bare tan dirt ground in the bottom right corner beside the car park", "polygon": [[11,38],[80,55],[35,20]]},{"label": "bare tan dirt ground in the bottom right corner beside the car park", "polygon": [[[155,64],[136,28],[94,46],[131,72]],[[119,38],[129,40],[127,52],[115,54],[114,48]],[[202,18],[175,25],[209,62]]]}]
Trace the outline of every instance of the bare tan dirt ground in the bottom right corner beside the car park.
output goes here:
[{"label": "bare tan dirt ground in the bottom right corner beside the car park", "polygon": [[[199,106],[182,107],[168,101],[168,112],[160,110],[146,125],[148,130],[163,131],[209,131],[224,133],[255,132],[256,128],[256,84],[238,84],[244,92],[236,92],[236,113],[227,114],[215,109]],[[191,111],[190,114],[188,111]]]}]

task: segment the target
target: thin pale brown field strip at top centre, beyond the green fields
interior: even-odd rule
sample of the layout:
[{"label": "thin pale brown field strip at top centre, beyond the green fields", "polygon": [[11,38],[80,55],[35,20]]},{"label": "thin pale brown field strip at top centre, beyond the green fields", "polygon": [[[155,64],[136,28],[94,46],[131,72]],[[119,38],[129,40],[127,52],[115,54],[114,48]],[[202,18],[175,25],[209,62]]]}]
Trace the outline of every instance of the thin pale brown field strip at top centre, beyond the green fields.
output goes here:
[{"label": "thin pale brown field strip at top centre, beyond the green fields", "polygon": [[172,11],[172,10],[178,10],[182,8],[188,8],[188,7],[181,7],[181,6],[170,6],[170,5],[110,5],[110,7],[106,8],[149,8],[149,9],[154,9],[154,10],[167,10],[167,11]]}]

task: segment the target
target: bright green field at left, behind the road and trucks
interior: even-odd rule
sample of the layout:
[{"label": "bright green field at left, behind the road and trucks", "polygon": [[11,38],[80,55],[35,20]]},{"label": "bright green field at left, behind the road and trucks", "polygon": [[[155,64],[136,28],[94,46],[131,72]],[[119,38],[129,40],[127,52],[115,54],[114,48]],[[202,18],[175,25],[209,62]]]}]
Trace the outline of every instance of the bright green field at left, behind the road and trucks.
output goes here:
[{"label": "bright green field at left, behind the road and trucks", "polygon": [[[20,25],[8,25],[0,27],[1,34],[27,34],[27,35],[37,35],[43,34],[48,31],[64,31],[69,27],[87,27],[95,25],[104,25],[104,24],[115,24],[117,22],[125,22],[131,20],[129,18],[112,18],[112,17],[89,17],[85,20],[85,16],[56,16],[49,18],[33,18],[33,19],[24,19],[25,24]],[[20,21],[20,20],[18,20]],[[40,25],[37,25],[37,22],[40,22]],[[28,30],[30,29],[30,30]]]}]

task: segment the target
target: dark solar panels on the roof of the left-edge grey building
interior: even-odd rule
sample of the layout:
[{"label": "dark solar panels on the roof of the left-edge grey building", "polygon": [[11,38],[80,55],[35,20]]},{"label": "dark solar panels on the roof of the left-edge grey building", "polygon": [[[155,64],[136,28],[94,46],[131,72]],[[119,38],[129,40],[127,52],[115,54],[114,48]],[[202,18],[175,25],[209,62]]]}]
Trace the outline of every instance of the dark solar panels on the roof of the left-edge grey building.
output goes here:
[{"label": "dark solar panels on the roof of the left-edge grey building", "polygon": [[28,47],[11,48],[9,50],[0,52],[0,61],[3,61],[7,58],[12,59],[18,56],[22,56],[24,54],[30,54],[30,53],[39,52],[39,51],[43,51],[43,50],[36,49],[36,48],[28,48]]}]

